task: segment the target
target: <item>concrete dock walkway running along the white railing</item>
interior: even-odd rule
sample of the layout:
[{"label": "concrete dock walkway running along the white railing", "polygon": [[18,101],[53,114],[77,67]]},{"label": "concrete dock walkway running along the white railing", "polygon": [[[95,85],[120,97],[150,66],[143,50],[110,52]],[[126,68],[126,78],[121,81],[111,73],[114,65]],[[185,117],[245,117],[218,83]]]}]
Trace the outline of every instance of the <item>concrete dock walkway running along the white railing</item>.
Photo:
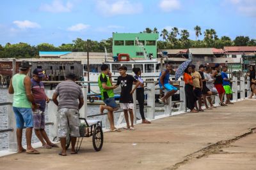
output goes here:
[{"label": "concrete dock walkway running along the white railing", "polygon": [[139,124],[134,131],[105,132],[95,152],[86,138],[76,155],[38,149],[40,155],[0,157],[0,169],[255,169],[255,99]]}]

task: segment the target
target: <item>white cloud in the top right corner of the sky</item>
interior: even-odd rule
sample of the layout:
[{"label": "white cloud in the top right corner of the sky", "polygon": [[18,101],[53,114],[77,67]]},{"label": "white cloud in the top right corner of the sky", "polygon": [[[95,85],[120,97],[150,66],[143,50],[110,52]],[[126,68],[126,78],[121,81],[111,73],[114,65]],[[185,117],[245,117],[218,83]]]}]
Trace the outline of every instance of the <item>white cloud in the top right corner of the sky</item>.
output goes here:
[{"label": "white cloud in the top right corner of the sky", "polygon": [[255,0],[226,0],[228,5],[232,5],[237,11],[243,15],[256,17],[256,1]]}]

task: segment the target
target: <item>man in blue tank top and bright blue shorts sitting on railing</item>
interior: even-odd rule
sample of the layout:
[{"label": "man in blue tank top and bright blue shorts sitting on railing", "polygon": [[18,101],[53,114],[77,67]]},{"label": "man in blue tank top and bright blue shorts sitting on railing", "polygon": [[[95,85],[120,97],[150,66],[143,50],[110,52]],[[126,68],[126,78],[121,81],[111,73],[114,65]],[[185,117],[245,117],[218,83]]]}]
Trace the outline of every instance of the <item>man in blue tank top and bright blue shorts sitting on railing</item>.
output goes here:
[{"label": "man in blue tank top and bright blue shorts sitting on railing", "polygon": [[168,98],[177,92],[177,88],[170,85],[170,71],[172,71],[172,64],[168,62],[166,64],[166,69],[164,69],[159,75],[159,87],[161,89],[167,90],[167,93],[159,99],[163,104],[168,104]]}]

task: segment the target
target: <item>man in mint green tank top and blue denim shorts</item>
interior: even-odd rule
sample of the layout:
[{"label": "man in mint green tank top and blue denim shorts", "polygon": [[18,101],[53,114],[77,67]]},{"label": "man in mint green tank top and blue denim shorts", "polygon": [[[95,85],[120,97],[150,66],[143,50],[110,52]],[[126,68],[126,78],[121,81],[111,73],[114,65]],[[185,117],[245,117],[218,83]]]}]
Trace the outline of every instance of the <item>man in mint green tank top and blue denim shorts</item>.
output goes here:
[{"label": "man in mint green tank top and blue denim shorts", "polygon": [[[31,93],[31,80],[27,74],[30,71],[31,64],[28,61],[23,60],[20,64],[20,71],[15,74],[8,89],[9,94],[13,94],[13,112],[16,118],[17,127],[17,145],[18,152],[26,152],[38,154],[39,152],[31,146],[31,137],[33,129],[33,112],[38,108],[35,103],[33,95]],[[27,150],[22,147],[22,129],[26,125],[26,143]]]}]

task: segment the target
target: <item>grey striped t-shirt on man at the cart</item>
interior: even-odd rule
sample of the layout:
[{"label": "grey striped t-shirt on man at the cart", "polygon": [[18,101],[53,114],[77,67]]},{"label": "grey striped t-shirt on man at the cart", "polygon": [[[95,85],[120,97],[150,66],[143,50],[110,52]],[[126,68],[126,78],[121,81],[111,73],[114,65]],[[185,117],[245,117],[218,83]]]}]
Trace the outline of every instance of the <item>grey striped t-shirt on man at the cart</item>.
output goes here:
[{"label": "grey striped t-shirt on man at the cart", "polygon": [[78,99],[83,98],[82,89],[71,80],[66,80],[57,85],[54,94],[59,96],[58,110],[72,108],[78,110]]}]

